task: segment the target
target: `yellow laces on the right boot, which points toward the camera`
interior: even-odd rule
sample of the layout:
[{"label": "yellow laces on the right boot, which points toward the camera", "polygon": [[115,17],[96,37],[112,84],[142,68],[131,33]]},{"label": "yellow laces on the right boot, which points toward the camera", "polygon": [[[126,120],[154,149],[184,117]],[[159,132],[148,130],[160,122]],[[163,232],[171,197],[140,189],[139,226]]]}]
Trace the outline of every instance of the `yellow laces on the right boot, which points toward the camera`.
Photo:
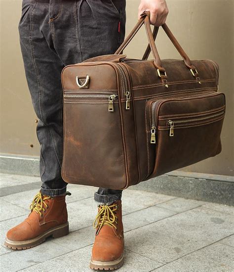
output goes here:
[{"label": "yellow laces on the right boot, which points toward the camera", "polygon": [[96,234],[98,234],[98,232],[104,225],[115,227],[115,229],[117,229],[117,227],[115,226],[115,223],[117,224],[117,216],[114,213],[117,210],[117,205],[100,205],[99,207],[100,210],[93,222],[93,227],[97,229]]}]

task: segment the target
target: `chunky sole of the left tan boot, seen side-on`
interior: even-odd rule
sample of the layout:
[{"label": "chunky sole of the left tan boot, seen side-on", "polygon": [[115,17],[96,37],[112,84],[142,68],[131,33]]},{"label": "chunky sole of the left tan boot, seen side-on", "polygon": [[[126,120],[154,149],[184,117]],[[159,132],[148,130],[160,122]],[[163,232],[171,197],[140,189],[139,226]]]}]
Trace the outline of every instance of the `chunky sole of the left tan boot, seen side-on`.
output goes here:
[{"label": "chunky sole of the left tan boot, seen side-on", "polygon": [[69,223],[65,223],[63,225],[60,225],[58,227],[53,227],[47,230],[46,232],[42,233],[41,235],[25,241],[11,241],[9,239],[5,239],[4,245],[8,248],[14,249],[14,250],[24,250],[29,249],[32,247],[35,247],[45,241],[45,239],[49,236],[52,236],[53,238],[59,238],[62,236],[65,236],[69,233]]}]

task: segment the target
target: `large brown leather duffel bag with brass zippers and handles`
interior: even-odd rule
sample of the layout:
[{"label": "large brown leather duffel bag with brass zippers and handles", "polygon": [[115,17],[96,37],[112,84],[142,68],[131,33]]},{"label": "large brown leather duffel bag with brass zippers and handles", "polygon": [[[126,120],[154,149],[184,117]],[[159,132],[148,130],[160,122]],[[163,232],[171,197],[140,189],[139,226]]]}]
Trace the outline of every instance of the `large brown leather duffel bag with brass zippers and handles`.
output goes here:
[{"label": "large brown leather duffel bag with brass zippers and handles", "polygon": [[[143,60],[122,50],[142,25]],[[68,183],[124,189],[221,152],[225,95],[218,65],[191,61],[166,25],[183,60],[160,60],[147,14],[113,55],[66,66],[62,176]],[[147,60],[150,49],[154,60]]]}]

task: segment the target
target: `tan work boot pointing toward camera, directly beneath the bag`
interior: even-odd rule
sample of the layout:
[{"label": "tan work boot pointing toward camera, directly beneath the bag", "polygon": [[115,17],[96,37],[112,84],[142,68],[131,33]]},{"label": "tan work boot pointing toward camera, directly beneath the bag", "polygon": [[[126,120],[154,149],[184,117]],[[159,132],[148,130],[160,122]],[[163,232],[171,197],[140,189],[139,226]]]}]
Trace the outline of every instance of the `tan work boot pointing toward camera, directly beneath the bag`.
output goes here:
[{"label": "tan work boot pointing toward camera, directly beneath the bag", "polygon": [[120,268],[123,264],[124,247],[121,200],[109,206],[98,206],[93,227],[97,230],[90,268],[94,270]]}]

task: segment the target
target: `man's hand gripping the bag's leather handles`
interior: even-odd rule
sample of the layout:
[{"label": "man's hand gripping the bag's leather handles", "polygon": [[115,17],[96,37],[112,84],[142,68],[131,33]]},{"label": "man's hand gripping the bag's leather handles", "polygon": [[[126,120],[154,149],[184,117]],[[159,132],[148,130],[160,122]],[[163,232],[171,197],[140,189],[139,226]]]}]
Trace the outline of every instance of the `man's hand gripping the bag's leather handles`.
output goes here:
[{"label": "man's hand gripping the bag's leather handles", "polygon": [[163,25],[169,12],[165,0],[141,0],[138,7],[138,19],[144,11],[150,11],[150,23],[154,26]]}]

